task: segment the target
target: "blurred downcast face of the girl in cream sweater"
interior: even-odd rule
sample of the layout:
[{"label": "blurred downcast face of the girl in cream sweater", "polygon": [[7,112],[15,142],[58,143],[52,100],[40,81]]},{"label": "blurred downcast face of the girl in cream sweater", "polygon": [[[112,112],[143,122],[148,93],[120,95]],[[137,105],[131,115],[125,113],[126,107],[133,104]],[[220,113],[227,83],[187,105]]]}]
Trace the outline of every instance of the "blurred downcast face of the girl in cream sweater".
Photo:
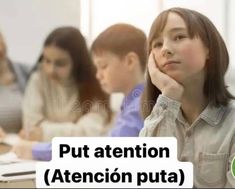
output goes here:
[{"label": "blurred downcast face of the girl in cream sweater", "polygon": [[42,68],[52,80],[63,81],[71,77],[73,62],[69,53],[56,46],[43,49]]}]

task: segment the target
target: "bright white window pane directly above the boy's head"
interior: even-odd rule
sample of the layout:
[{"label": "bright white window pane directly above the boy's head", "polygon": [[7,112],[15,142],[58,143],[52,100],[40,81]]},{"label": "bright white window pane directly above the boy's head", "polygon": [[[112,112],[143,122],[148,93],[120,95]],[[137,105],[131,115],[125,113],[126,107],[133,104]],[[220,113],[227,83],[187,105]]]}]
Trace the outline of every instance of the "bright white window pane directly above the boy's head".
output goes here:
[{"label": "bright white window pane directly above the boy's head", "polygon": [[91,40],[117,22],[132,24],[148,34],[159,11],[158,0],[91,0]]}]

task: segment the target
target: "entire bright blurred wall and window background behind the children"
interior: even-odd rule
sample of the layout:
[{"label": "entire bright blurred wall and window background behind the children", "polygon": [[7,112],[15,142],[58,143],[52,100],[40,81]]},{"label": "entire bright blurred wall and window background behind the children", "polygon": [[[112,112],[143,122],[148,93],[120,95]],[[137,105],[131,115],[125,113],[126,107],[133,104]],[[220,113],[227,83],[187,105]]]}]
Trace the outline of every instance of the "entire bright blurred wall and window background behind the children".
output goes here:
[{"label": "entire bright blurred wall and window background behind the children", "polygon": [[[230,54],[226,75],[235,94],[234,0],[0,0],[0,30],[13,61],[33,65],[47,34],[58,26],[79,28],[88,46],[108,26],[129,23],[147,35],[151,23],[164,9],[186,7],[208,16],[222,34]],[[122,95],[112,96],[118,109]]]}]

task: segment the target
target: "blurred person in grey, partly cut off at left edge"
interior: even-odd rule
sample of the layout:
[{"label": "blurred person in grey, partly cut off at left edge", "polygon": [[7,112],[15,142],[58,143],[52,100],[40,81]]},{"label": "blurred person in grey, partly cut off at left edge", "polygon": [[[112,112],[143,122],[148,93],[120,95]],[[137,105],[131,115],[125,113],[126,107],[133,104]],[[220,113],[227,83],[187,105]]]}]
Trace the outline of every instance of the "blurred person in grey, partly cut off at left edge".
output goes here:
[{"label": "blurred person in grey, partly cut off at left edge", "polygon": [[13,63],[0,33],[0,137],[17,133],[22,127],[22,97],[29,67]]}]

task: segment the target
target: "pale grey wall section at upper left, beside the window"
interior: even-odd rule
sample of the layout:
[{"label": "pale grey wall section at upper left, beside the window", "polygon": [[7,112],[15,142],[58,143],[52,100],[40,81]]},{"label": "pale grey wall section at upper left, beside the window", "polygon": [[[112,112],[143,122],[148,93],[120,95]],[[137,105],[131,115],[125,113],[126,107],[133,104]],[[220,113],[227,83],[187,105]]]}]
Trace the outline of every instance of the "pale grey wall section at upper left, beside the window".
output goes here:
[{"label": "pale grey wall section at upper left, beside the window", "polygon": [[0,0],[0,31],[15,61],[35,63],[45,37],[62,25],[80,26],[80,0]]}]

